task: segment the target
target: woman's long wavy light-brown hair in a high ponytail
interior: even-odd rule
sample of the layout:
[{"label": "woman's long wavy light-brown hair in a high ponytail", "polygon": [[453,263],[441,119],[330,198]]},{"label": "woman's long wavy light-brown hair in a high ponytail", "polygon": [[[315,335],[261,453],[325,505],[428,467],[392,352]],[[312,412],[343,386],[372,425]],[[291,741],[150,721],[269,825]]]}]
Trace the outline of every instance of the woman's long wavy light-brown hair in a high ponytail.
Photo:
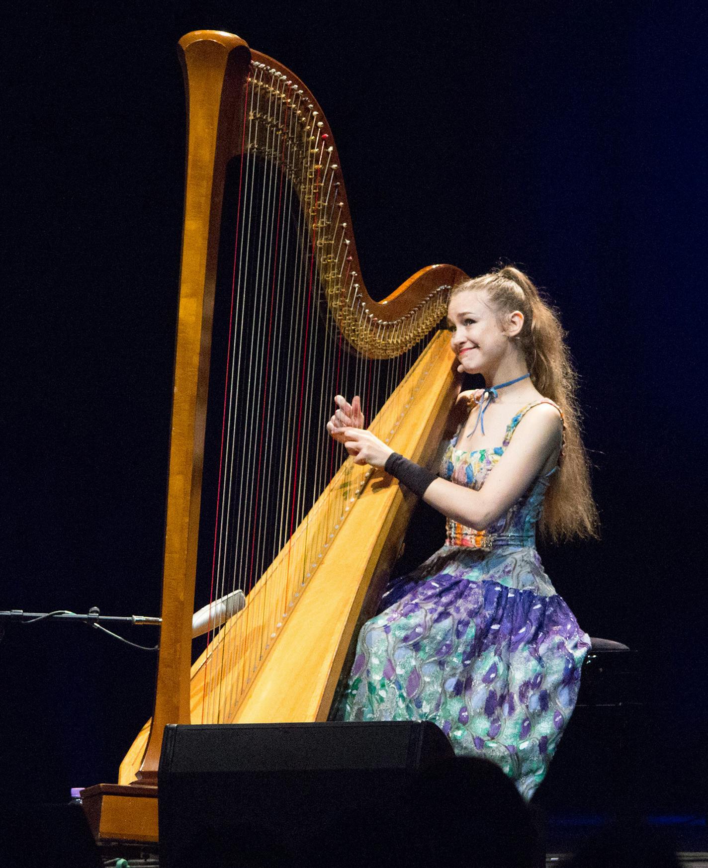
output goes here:
[{"label": "woman's long wavy light-brown hair in a high ponytail", "polygon": [[598,512],[590,490],[590,462],[582,442],[576,399],[578,375],[558,312],[531,279],[513,266],[503,266],[457,284],[450,298],[470,290],[488,294],[500,325],[505,314],[523,313],[524,323],[515,339],[526,357],[531,382],[563,412],[562,457],[543,502],[541,534],[554,542],[574,536],[598,537]]}]

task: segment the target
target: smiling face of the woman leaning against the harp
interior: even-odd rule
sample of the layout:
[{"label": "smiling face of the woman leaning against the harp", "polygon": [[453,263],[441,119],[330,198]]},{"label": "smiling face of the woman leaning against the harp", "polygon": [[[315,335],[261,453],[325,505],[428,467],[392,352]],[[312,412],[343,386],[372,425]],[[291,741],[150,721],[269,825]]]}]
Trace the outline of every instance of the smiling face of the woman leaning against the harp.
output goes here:
[{"label": "smiling face of the woman leaning against the harp", "polygon": [[450,299],[450,346],[466,373],[484,373],[499,364],[508,352],[508,336],[502,332],[488,294],[469,290]]}]

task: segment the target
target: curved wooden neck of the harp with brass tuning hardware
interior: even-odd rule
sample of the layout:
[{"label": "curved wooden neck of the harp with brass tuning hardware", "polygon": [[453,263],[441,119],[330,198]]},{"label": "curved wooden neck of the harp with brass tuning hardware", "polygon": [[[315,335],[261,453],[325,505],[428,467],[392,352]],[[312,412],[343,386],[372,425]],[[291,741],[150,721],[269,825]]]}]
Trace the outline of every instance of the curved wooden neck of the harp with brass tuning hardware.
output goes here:
[{"label": "curved wooden neck of the harp with brass tuning hardware", "polygon": [[[192,60],[190,49],[198,48],[203,52],[204,56],[195,57],[193,61],[194,71],[200,72],[206,62],[213,62],[212,58],[217,53],[236,52],[236,56],[227,55],[228,62],[232,66],[239,66],[244,63],[244,56],[240,52],[248,51],[251,58],[251,68],[246,69],[246,77],[250,79],[248,87],[261,95],[260,101],[253,107],[253,115],[259,116],[260,124],[253,134],[254,141],[250,147],[270,158],[275,157],[294,176],[292,181],[296,182],[296,189],[299,186],[298,194],[311,218],[312,233],[318,235],[318,263],[327,301],[334,319],[351,345],[359,352],[364,352],[368,358],[388,358],[391,354],[404,352],[411,341],[415,343],[422,338],[432,325],[442,319],[449,287],[466,279],[467,275],[455,266],[426,266],[405,280],[386,299],[374,301],[366,290],[361,274],[337,145],[325,113],[310,90],[290,69],[272,57],[248,49],[238,36],[197,30],[180,40],[180,48],[186,68]],[[186,70],[186,77],[188,74]],[[225,132],[229,140],[225,147],[226,160],[239,155],[244,146],[244,127],[233,121],[244,115],[243,88],[243,76],[240,76],[240,81],[237,76],[234,76],[233,82],[226,80],[225,98],[221,101],[222,113],[229,102],[233,103],[228,111],[230,137]],[[252,101],[255,102],[253,96]],[[278,128],[274,128],[276,125]],[[282,144],[284,140],[292,143],[292,150],[286,158]],[[311,177],[299,185],[297,169],[293,168],[296,161],[300,164],[309,162],[311,173]],[[330,219],[329,214],[324,213],[324,196],[318,199],[318,190],[329,193],[334,201],[332,191],[335,186],[338,186],[337,202],[336,207],[330,208],[333,212]],[[343,247],[339,247],[340,240]],[[341,266],[342,262],[345,263],[344,271],[333,267]],[[376,342],[366,339],[365,326],[353,317],[352,309],[359,307],[355,299],[362,300],[366,319],[380,322],[382,330],[386,330],[382,331]],[[398,323],[397,328],[394,327],[395,323]],[[384,345],[385,350],[382,351],[377,344]],[[388,355],[384,356],[384,352]]]}]

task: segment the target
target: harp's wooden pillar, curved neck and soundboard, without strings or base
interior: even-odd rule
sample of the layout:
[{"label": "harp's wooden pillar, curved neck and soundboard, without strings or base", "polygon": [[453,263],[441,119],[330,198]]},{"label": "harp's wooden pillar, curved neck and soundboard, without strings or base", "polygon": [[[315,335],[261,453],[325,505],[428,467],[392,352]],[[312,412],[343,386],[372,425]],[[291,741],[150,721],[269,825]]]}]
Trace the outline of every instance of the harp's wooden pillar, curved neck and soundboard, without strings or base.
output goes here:
[{"label": "harp's wooden pillar, curved neck and soundboard, without strings or base", "polygon": [[[352,637],[397,556],[414,503],[380,471],[345,461],[252,587],[246,608],[192,664],[206,392],[228,163],[239,155],[258,155],[275,162],[292,185],[308,220],[311,269],[322,299],[357,357],[390,359],[410,351],[443,318],[451,286],[467,277],[455,266],[427,266],[383,301],[371,299],[361,277],[337,146],[310,91],[282,64],[220,31],[184,36],[180,60],[187,89],[187,180],[161,653],[154,717],[124,759],[121,783],[136,778],[154,783],[164,726],[204,720],[210,679],[218,677],[220,694],[231,697],[216,720],[326,720]],[[437,332],[370,429],[390,437],[403,454],[428,462],[455,398],[452,360],[447,334]],[[340,518],[333,502],[341,505]],[[285,575],[284,563],[291,558],[312,566],[297,587]],[[279,622],[256,619],[254,610],[272,606]],[[276,635],[278,641],[271,641]],[[229,649],[237,639],[259,648],[256,666]],[[294,658],[298,683],[293,686]],[[219,665],[205,674],[209,661]]]}]

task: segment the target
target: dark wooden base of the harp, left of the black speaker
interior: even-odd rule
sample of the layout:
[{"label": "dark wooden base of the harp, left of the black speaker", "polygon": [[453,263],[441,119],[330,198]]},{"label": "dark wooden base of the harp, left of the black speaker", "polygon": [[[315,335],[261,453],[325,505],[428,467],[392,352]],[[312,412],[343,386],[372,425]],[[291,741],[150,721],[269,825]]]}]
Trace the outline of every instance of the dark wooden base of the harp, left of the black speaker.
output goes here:
[{"label": "dark wooden base of the harp, left of the black speaker", "polygon": [[82,791],[82,806],[99,844],[157,842],[156,786],[88,786]]}]

